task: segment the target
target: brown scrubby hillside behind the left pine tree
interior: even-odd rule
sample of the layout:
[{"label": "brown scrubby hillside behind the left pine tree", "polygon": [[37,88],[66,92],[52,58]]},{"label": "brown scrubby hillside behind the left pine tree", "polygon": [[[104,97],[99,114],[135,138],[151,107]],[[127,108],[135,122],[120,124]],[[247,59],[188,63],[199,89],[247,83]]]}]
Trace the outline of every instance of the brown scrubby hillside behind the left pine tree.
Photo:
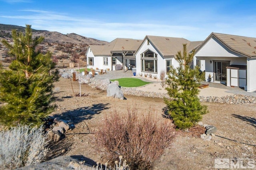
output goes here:
[{"label": "brown scrubby hillside behind the left pine tree", "polygon": [[[10,62],[13,58],[8,54],[8,49],[1,43],[2,39],[6,39],[12,43],[12,29],[25,32],[25,27],[17,25],[0,24],[0,61]],[[44,37],[36,50],[41,53],[50,51],[52,59],[56,63],[74,62],[79,57],[80,61],[86,61],[85,53],[88,45],[105,45],[108,42],[100,41],[94,38],[88,38],[76,33],[62,34],[56,31],[45,31],[32,29],[33,37]]]}]

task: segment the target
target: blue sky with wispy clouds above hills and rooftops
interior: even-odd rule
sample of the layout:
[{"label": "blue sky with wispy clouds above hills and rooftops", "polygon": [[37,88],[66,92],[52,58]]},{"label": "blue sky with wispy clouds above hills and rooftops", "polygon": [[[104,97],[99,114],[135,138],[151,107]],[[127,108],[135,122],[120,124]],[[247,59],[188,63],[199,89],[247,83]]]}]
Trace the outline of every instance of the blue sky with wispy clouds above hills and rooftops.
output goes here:
[{"label": "blue sky with wispy clouds above hills and rooftops", "polygon": [[256,37],[256,0],[0,0],[0,23],[112,41]]}]

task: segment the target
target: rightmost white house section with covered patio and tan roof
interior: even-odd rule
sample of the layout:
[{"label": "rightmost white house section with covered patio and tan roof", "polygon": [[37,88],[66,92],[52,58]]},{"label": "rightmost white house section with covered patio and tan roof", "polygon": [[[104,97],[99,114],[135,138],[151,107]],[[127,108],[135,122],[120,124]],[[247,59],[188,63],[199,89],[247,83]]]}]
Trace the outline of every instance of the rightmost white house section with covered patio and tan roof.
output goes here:
[{"label": "rightmost white house section with covered patio and tan roof", "polygon": [[256,90],[256,38],[211,33],[195,58],[205,61],[206,80],[210,74],[213,82]]}]

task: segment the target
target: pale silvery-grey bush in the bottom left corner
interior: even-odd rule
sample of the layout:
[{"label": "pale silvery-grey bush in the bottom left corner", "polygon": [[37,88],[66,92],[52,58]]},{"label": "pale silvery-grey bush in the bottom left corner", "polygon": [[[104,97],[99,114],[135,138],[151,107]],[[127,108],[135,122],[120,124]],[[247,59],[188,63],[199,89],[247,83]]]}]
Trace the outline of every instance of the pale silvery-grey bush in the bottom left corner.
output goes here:
[{"label": "pale silvery-grey bush in the bottom left corner", "polygon": [[14,169],[44,160],[48,140],[43,128],[12,127],[0,132],[0,167]]}]

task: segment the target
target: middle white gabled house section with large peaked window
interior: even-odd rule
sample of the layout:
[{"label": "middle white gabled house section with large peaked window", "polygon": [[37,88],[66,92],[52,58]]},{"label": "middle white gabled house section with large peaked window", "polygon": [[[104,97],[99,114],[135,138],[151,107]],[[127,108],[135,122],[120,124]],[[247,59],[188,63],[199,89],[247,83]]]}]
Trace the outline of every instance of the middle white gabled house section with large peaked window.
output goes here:
[{"label": "middle white gabled house section with large peaked window", "polygon": [[183,51],[183,44],[187,44],[187,51],[192,51],[200,43],[202,41],[191,42],[184,38],[146,35],[134,54],[136,74],[152,74],[160,78],[162,71],[167,73],[171,66],[179,66],[174,56],[178,51]]}]

